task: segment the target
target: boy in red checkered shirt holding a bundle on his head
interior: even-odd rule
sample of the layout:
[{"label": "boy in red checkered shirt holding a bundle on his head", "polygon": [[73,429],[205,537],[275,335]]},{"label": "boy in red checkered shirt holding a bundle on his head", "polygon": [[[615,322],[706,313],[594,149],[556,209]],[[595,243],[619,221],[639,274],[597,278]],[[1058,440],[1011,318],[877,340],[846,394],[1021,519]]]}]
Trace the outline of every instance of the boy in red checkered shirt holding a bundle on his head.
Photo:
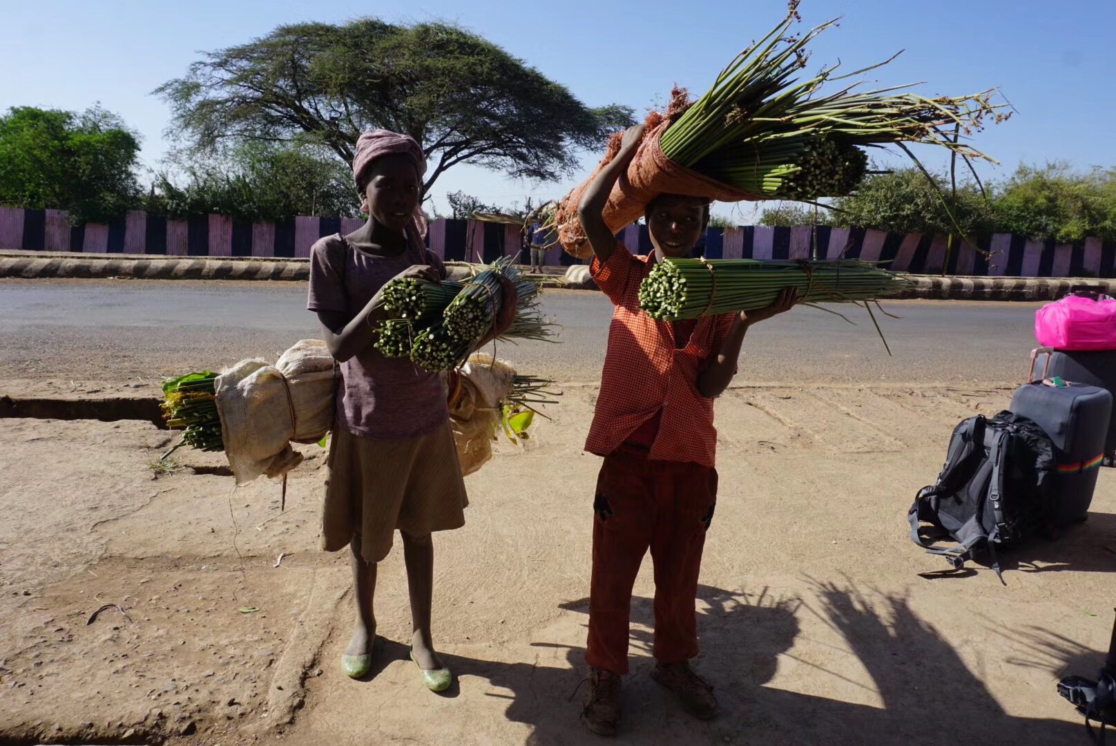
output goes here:
[{"label": "boy in red checkered shirt holding a bundle on his head", "polygon": [[695,717],[712,718],[712,688],[690,668],[698,654],[694,599],[705,532],[716,501],[713,399],[735,374],[749,326],[789,310],[793,289],[759,310],[695,321],[656,322],[639,308],[639,283],[664,257],[690,257],[709,223],[709,200],[663,194],[646,209],[655,247],[635,257],[605,224],[613,185],[635,155],[643,126],[624,134],[619,153],[578,205],[593,248],[593,277],[616,306],[596,413],[586,450],[605,458],[597,478],[589,594],[586,725],[614,735],[620,676],[627,673],[632,587],[643,555],[655,565],[652,676]]}]

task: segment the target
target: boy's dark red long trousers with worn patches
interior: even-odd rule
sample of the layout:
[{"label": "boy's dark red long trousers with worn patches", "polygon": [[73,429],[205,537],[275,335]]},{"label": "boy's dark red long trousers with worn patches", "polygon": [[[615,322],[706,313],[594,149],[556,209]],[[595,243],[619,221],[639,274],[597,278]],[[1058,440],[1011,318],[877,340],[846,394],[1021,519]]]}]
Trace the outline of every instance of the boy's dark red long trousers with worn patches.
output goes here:
[{"label": "boy's dark red long trousers with worn patches", "polygon": [[698,654],[694,599],[715,503],[713,467],[653,461],[626,446],[605,457],[594,504],[589,666],[627,673],[632,586],[648,547],[655,565],[655,659],[675,663]]}]

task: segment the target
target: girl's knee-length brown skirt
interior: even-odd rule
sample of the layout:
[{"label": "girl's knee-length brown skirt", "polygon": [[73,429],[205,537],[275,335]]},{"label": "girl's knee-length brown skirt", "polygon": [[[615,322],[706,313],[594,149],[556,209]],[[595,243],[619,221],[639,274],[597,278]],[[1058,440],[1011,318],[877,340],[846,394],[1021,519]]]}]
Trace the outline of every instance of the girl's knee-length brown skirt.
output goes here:
[{"label": "girl's knee-length brown skirt", "polygon": [[371,440],[338,424],[330,434],[323,547],[337,552],[360,534],[360,554],[379,562],[395,529],[425,536],[465,525],[469,505],[450,421],[410,440]]}]

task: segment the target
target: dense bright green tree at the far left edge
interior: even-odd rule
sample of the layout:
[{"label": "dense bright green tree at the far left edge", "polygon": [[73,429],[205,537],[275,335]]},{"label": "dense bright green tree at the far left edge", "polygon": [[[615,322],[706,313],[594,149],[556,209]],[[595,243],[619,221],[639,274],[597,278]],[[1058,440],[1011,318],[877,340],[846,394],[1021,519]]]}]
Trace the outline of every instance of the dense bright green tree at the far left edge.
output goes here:
[{"label": "dense bright green tree at the far left edge", "polygon": [[19,106],[0,116],[0,202],[106,222],[136,198],[140,141],[95,106],[83,114]]}]

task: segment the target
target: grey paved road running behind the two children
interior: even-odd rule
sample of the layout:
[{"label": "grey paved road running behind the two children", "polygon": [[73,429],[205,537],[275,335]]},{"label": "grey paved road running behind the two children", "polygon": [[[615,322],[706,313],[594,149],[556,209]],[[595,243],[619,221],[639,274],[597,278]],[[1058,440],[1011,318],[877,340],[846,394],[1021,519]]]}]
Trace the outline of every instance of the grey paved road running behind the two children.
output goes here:
[{"label": "grey paved road running behind the two children", "polygon": [[[317,336],[300,283],[0,280],[0,379],[127,380],[244,357],[275,358]],[[599,293],[549,290],[561,344],[503,345],[500,355],[555,380],[599,377],[610,306]],[[738,381],[1010,383],[1026,374],[1035,304],[904,302],[854,322],[810,308],[758,326]],[[878,316],[878,315],[877,315]]]}]

